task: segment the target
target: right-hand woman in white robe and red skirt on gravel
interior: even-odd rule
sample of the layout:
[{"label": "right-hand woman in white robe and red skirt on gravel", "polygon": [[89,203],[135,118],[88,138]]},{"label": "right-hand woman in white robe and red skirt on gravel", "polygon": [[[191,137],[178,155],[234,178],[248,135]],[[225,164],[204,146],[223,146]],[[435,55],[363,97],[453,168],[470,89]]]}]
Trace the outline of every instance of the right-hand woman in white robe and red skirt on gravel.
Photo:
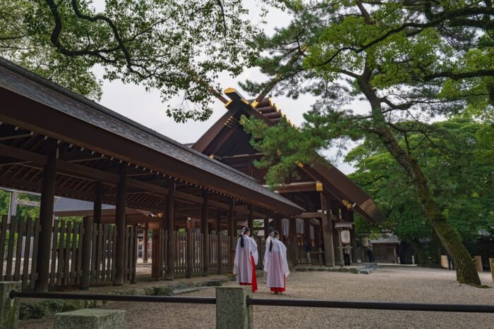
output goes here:
[{"label": "right-hand woman in white robe and red skirt on gravel", "polygon": [[287,247],[279,241],[279,232],[271,233],[271,241],[264,254],[266,285],[275,294],[285,291],[285,280],[290,274],[287,261]]}]

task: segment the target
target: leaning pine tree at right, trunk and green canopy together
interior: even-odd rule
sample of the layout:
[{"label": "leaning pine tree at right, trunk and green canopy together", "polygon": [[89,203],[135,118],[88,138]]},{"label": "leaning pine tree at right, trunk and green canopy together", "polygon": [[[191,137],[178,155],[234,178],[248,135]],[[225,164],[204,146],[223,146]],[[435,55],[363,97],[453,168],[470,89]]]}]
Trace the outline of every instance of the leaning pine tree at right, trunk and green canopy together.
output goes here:
[{"label": "leaning pine tree at right, trunk and green canopy together", "polygon": [[[270,79],[263,83],[247,81],[243,87],[258,94],[258,99],[271,90],[291,97],[313,94],[315,103],[306,113],[300,138],[315,141],[316,148],[304,151],[304,142],[296,147],[299,154],[307,154],[306,158],[317,159],[314,151],[342,140],[373,139],[379,143],[406,173],[424,216],[457,263],[459,282],[479,285],[470,255],[448,224],[423,164],[407,146],[411,135],[422,135],[429,141],[434,132],[430,118],[458,113],[473,113],[484,120],[491,116],[491,2],[284,4],[292,14],[291,23],[258,41],[267,55],[256,64]],[[366,106],[357,111],[358,101],[365,101]],[[250,126],[246,128],[253,132]],[[285,130],[293,134],[293,129]],[[270,139],[258,143],[269,145]],[[288,170],[289,166],[293,170],[296,166],[294,154],[282,151],[278,149],[275,154],[279,166],[271,170]]]}]

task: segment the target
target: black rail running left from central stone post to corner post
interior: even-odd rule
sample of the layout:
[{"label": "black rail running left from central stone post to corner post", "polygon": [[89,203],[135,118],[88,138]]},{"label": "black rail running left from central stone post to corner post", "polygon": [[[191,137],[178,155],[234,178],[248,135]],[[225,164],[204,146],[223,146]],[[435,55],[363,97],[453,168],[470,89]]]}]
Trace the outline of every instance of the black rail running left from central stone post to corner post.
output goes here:
[{"label": "black rail running left from central stone post to corner post", "polygon": [[176,297],[176,296],[139,296],[123,294],[69,294],[66,292],[16,292],[11,291],[11,298],[51,298],[51,299],[86,299],[106,300],[112,302],[157,302],[182,304],[216,304],[213,297]]}]

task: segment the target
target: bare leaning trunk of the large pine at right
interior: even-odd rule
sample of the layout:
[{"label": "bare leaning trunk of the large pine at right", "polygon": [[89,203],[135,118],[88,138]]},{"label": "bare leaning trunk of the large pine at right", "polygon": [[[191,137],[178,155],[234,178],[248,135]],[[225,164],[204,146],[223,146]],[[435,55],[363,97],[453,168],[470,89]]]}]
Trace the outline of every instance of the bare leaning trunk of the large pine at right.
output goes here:
[{"label": "bare leaning trunk of the large pine at right", "polygon": [[423,174],[416,159],[402,149],[390,128],[388,128],[385,116],[382,114],[380,99],[368,83],[369,80],[370,72],[366,70],[358,82],[363,94],[366,95],[370,102],[373,123],[372,131],[378,135],[387,151],[404,168],[406,175],[413,182],[418,195],[418,201],[420,201],[426,217],[433,226],[442,245],[450,253],[454,261],[458,282],[469,285],[481,285],[481,280],[478,278],[478,273],[474,262],[471,260],[471,255],[462,244],[462,240],[460,240],[457,233],[450,228],[445,216],[440,212],[432,194],[430,194],[426,175]]}]

